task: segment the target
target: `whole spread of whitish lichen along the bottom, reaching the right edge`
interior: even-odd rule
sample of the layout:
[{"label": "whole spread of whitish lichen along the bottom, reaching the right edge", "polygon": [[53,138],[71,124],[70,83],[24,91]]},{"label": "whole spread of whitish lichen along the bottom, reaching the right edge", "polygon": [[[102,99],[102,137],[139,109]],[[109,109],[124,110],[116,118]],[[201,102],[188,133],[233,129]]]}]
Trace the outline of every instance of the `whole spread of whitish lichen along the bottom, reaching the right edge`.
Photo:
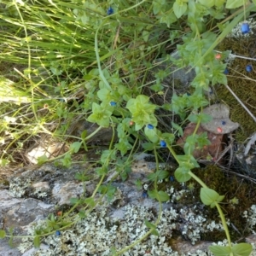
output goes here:
[{"label": "whole spread of whitish lichen along the bottom, reaching the right edge", "polygon": [[[223,229],[221,224],[207,222],[206,218],[195,212],[193,212],[193,208],[189,207],[186,210],[180,209],[179,211],[172,207],[165,209],[161,213],[160,224],[156,228],[160,236],[150,235],[147,239],[140,241],[121,255],[213,256],[208,251],[203,252],[200,250],[195,253],[177,253],[168,244],[168,239],[172,237],[172,232],[177,229],[180,229],[183,236],[187,236],[192,243],[199,240],[199,236],[204,230]],[[246,217],[249,213],[245,212],[244,214]],[[252,207],[250,214],[256,219],[256,206]],[[90,212],[86,218],[80,219],[73,227],[68,230],[61,230],[61,236],[51,235],[42,239],[42,242],[47,246],[33,251],[31,255],[109,256],[112,255],[111,250],[113,247],[116,251],[119,251],[142,238],[148,232],[145,220],[154,224],[156,218],[155,212],[148,210],[148,208],[133,205],[125,207],[125,218],[122,220],[108,217],[107,210],[101,209],[100,211]],[[179,224],[180,219],[183,219],[181,226]],[[254,225],[255,223],[252,224]],[[45,228],[46,223],[39,221],[33,224],[28,230],[28,234],[34,234],[34,230],[38,229],[38,227]],[[226,245],[227,241],[218,242],[217,244]],[[23,242],[19,247],[20,252],[24,253],[32,246],[32,238],[23,238]],[[256,253],[252,255],[256,256]]]}]

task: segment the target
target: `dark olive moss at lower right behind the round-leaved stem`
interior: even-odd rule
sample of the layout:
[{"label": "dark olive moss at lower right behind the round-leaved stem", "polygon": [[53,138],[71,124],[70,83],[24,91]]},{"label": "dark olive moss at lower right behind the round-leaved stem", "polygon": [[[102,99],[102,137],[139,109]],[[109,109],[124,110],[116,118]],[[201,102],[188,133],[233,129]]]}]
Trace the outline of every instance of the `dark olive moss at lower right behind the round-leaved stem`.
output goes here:
[{"label": "dark olive moss at lower right behind the round-leaved stem", "polygon": [[[256,204],[256,185],[249,181],[240,179],[239,177],[225,174],[218,166],[207,166],[205,168],[195,168],[193,170],[196,176],[200,177],[210,189],[214,189],[219,195],[224,195],[224,201],[221,202],[221,207],[225,218],[230,219],[230,237],[232,241],[241,239],[241,237],[250,234],[247,230],[247,219],[242,218],[242,213],[248,210],[253,204]],[[171,185],[175,190],[181,189],[181,184],[174,181]],[[171,187],[170,183],[169,186]],[[163,185],[162,185],[163,186]],[[195,206],[200,199],[201,186],[194,180],[189,180],[186,183],[189,193],[177,201],[180,207]],[[238,204],[231,204],[230,200],[238,200]],[[202,207],[198,214],[202,214],[207,219],[212,219],[216,223],[220,222],[216,207]],[[206,230],[207,231],[207,230]],[[222,241],[225,238],[224,231],[213,230],[201,234],[201,240],[206,241]]]}]

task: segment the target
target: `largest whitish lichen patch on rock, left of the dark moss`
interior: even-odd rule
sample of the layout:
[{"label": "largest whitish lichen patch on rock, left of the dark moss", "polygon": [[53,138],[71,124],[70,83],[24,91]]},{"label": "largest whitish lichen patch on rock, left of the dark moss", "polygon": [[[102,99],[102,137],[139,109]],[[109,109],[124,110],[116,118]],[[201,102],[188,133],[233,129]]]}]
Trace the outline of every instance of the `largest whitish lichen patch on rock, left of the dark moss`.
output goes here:
[{"label": "largest whitish lichen patch on rock, left of the dark moss", "polygon": [[[172,248],[166,243],[166,237],[170,237],[171,230],[175,228],[176,218],[177,212],[174,209],[163,211],[157,226],[160,236],[148,236],[148,239],[141,241],[123,255],[178,255],[170,254],[173,253]],[[48,244],[49,248],[39,249],[32,255],[110,255],[112,247],[119,251],[143,237],[148,232],[146,219],[154,223],[156,216],[145,207],[131,205],[125,207],[123,221],[109,218],[103,210],[91,212],[87,218],[79,220],[73,229],[61,231],[61,236],[44,238],[44,243]],[[24,252],[31,246],[32,241],[26,238],[19,248]]]}]

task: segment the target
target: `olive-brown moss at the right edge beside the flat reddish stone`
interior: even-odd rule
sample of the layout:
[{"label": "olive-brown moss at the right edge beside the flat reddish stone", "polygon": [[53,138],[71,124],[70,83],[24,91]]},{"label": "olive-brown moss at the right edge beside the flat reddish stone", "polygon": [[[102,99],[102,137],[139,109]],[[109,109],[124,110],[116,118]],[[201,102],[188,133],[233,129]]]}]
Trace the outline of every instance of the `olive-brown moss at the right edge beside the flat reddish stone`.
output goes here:
[{"label": "olive-brown moss at the right edge beside the flat reddish stone", "polygon": [[[254,58],[256,55],[256,36],[255,34],[249,38],[225,38],[219,44],[218,50],[231,50],[232,54]],[[246,107],[256,116],[256,67],[253,67],[251,73],[247,73],[247,65],[252,65],[252,61],[235,58],[230,61],[227,68],[229,69],[228,85],[234,91],[236,96],[241,99]],[[256,130],[256,124],[247,111],[241,107],[236,98],[232,96],[224,85],[216,86],[216,93],[220,102],[230,106],[230,119],[238,122],[241,128],[236,132],[236,140],[244,142]]]}]

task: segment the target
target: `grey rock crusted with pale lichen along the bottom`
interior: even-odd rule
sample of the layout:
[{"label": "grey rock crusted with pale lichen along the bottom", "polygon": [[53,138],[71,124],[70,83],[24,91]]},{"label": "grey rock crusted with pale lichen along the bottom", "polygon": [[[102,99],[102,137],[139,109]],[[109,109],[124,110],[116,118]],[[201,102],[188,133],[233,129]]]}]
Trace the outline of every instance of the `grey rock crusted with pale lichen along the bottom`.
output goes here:
[{"label": "grey rock crusted with pale lichen along the bottom", "polygon": [[[148,231],[145,219],[154,223],[160,209],[158,201],[143,197],[143,188],[137,188],[137,181],[141,183],[148,181],[148,174],[154,172],[155,163],[147,162],[145,157],[148,158],[148,155],[137,155],[137,160],[131,166],[132,172],[125,182],[119,179],[113,181],[112,186],[116,189],[113,199],[109,201],[107,196],[103,197],[102,203],[93,212],[88,212],[86,218],[80,219],[67,230],[61,230],[61,236],[54,234],[47,236],[38,250],[32,248],[30,240],[15,241],[15,245],[23,248],[23,254],[18,253],[16,249],[9,249],[6,241],[0,240],[1,253],[4,256],[10,255],[9,253],[14,253],[15,256],[28,256],[32,253],[37,256],[68,253],[109,255],[111,246],[125,247],[131,244]],[[85,171],[87,171],[86,175],[90,175],[90,181],[84,183],[85,196],[88,198],[98,182],[95,169],[89,164],[62,168],[49,163],[28,170],[20,169],[10,178],[9,190],[0,190],[0,223],[2,224],[0,229],[15,225],[15,234],[24,234],[26,230],[31,230],[38,220],[45,219],[49,213],[53,213],[57,218],[56,206],[61,206],[61,212],[64,214],[70,207],[70,197],[80,198],[84,193],[83,183],[74,176]],[[113,170],[108,173],[108,177],[114,172]],[[170,172],[173,173],[174,170]],[[104,185],[108,184],[108,177]],[[149,187],[152,185],[148,183]],[[166,186],[166,183],[164,185]],[[18,187],[20,190],[16,193]],[[177,255],[174,250],[180,255],[187,255],[188,252],[196,253],[198,249],[207,250],[209,242],[196,241],[200,238],[201,232],[207,229],[208,222],[212,220],[201,215],[203,214],[201,203],[191,206],[178,204],[177,197],[181,197],[183,193],[190,194],[191,191],[186,192],[183,186],[180,186],[181,190],[175,191],[172,182],[168,183],[168,187],[166,191],[170,195],[170,201],[162,204],[161,222],[157,227],[160,236],[149,236],[132,249],[131,255],[136,255],[138,252],[143,255],[146,252],[157,255],[160,252],[160,255],[172,256]],[[22,189],[25,193],[22,193]],[[15,195],[20,197],[15,198]],[[96,194],[96,199],[99,196],[100,194]],[[169,238],[172,233],[177,232],[183,234],[182,239],[173,238],[171,242]],[[188,241],[185,241],[184,237]],[[195,243],[195,246],[192,246],[191,242]]]}]

